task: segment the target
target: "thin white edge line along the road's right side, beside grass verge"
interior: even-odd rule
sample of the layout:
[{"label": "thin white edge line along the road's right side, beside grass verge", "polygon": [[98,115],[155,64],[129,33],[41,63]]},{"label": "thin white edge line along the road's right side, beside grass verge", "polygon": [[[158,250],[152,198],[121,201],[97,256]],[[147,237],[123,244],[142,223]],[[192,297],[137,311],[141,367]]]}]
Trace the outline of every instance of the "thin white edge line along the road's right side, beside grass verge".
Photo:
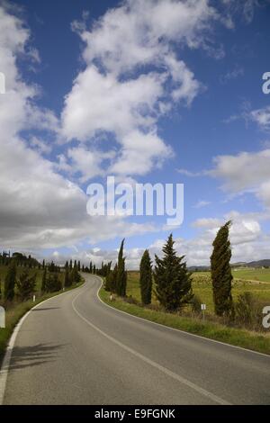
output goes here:
[{"label": "thin white edge line along the road's right side, beside grass verge", "polygon": [[135,318],[135,319],[147,321],[148,323],[151,323],[152,325],[157,325],[157,326],[161,326],[162,328],[166,328],[166,329],[169,329],[169,330],[175,330],[176,332],[184,333],[184,335],[187,335],[189,337],[201,338],[204,341],[205,340],[206,341],[211,341],[211,342],[214,342],[215,344],[220,344],[220,345],[223,345],[223,346],[226,346],[226,347],[237,348],[237,349],[240,349],[241,351],[245,351],[245,352],[248,352],[248,353],[253,353],[253,354],[257,354],[259,356],[264,356],[264,357],[270,358],[270,356],[268,354],[260,353],[259,351],[254,351],[253,349],[248,349],[248,348],[244,348],[244,347],[238,347],[238,346],[234,346],[232,344],[227,344],[226,342],[218,341],[216,339],[202,337],[202,335],[196,335],[196,334],[194,334],[192,332],[187,332],[185,330],[172,328],[171,326],[166,326],[166,325],[163,325],[162,323],[157,323],[156,321],[152,321],[152,320],[141,318],[139,316],[135,316],[134,314],[130,314],[127,311],[122,311],[122,310],[116,309],[115,307],[112,307],[112,305],[109,305],[106,302],[103,302],[103,300],[100,298],[99,292],[100,292],[100,290],[103,287],[103,280],[99,276],[94,276],[94,277],[96,277],[96,278],[98,278],[98,279],[100,279],[102,281],[102,284],[100,285],[100,287],[98,289],[98,292],[97,292],[97,298],[99,299],[100,302],[102,302],[105,306],[110,307],[110,309],[112,309],[112,310],[119,311],[120,313],[127,314],[128,316],[131,316],[132,318]]}]

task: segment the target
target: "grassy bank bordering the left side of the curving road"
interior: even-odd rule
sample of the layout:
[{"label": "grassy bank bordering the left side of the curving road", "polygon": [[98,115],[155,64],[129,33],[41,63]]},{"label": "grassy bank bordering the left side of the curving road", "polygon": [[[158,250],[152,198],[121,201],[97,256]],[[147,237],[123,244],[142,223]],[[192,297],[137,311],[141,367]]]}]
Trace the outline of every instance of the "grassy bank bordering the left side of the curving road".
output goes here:
[{"label": "grassy bank bordering the left side of the curving road", "polygon": [[[30,270],[34,270],[34,269],[30,269]],[[85,280],[83,279],[79,284],[75,284],[67,288],[65,292],[81,286],[82,284],[84,284],[84,282]],[[0,329],[0,366],[4,358],[4,352],[8,344],[9,338],[11,337],[16,324],[23,317],[23,315],[27,311],[30,311],[31,308],[34,307],[35,305],[45,300],[48,300],[49,298],[52,298],[58,295],[59,293],[62,293],[62,291],[58,291],[57,293],[46,293],[44,295],[40,295],[37,297],[36,302],[33,302],[32,300],[29,300],[27,302],[14,302],[8,307],[8,309],[5,312],[5,328]]]}]

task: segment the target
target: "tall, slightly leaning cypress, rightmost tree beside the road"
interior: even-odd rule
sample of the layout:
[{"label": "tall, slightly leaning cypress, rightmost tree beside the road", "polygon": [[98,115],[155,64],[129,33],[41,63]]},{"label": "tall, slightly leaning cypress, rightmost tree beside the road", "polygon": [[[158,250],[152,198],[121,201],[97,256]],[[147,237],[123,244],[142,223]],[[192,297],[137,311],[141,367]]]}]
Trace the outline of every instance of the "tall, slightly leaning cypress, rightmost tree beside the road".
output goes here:
[{"label": "tall, slightly leaning cypress, rightmost tree beside the road", "polygon": [[231,316],[233,313],[233,302],[231,296],[231,269],[229,260],[231,249],[229,242],[229,220],[221,226],[214,239],[211,254],[211,283],[215,313],[218,316]]}]

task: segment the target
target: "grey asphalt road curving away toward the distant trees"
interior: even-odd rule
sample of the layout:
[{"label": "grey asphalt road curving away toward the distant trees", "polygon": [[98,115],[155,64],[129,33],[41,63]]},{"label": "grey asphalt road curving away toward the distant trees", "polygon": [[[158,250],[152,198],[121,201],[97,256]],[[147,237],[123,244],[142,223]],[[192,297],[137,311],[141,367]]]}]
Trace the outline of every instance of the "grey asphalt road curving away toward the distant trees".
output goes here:
[{"label": "grey asphalt road curving away toward the distant trees", "polygon": [[23,321],[4,404],[270,404],[270,357],[115,311],[85,279]]}]

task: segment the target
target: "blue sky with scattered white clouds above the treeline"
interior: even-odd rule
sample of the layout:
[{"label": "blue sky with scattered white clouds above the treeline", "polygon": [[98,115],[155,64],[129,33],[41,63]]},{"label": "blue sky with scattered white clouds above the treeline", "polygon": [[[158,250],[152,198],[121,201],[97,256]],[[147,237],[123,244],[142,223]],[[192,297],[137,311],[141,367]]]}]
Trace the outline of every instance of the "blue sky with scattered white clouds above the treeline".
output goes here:
[{"label": "blue sky with scattered white clouds above the treeline", "polygon": [[[209,264],[270,258],[267,0],[0,0],[0,248],[138,268],[172,231]],[[184,184],[184,221],[90,216],[87,186]]]}]

